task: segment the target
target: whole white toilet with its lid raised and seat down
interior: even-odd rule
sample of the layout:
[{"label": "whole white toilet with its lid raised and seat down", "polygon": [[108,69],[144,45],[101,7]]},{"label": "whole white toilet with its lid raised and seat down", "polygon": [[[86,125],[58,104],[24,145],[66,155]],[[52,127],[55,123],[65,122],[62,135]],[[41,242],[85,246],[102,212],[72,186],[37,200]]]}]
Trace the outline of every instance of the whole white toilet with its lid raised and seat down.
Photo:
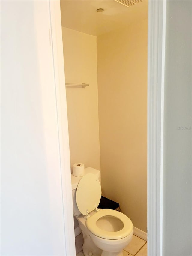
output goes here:
[{"label": "whole white toilet with its lid raised and seat down", "polygon": [[85,256],[122,256],[133,236],[133,224],[122,212],[98,209],[101,199],[100,171],[85,168],[85,175],[71,174],[73,215],[82,230]]}]

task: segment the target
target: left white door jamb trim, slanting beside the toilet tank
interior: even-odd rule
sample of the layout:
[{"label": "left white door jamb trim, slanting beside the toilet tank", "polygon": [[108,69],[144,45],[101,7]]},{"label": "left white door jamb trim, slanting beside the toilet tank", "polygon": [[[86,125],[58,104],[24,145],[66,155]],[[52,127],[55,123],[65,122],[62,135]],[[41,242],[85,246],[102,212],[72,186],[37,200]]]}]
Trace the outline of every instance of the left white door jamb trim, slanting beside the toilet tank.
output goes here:
[{"label": "left white door jamb trim, slanting beside the toilet tank", "polygon": [[58,114],[59,154],[61,161],[61,193],[63,196],[65,233],[65,241],[63,241],[63,243],[66,253],[65,255],[73,256],[76,255],[76,252],[60,1],[49,0],[49,8],[51,21],[50,44],[52,44],[53,52],[53,69],[55,75],[55,93]]}]

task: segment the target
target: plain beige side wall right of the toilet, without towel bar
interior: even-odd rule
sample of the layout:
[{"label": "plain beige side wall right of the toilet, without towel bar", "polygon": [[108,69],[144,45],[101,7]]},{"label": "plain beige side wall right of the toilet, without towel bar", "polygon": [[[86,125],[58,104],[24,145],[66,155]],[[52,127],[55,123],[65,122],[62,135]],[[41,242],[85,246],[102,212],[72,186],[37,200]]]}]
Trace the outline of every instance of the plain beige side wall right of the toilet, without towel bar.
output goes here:
[{"label": "plain beige side wall right of the toilet, without towel bar", "polygon": [[147,20],[97,37],[103,195],[147,227]]}]

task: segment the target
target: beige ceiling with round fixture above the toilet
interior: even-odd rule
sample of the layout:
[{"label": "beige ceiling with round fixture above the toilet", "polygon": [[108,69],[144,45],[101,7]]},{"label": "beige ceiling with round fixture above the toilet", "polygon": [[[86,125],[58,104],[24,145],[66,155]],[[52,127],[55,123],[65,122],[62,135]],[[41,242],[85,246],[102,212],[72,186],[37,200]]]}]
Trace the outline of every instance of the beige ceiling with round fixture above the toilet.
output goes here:
[{"label": "beige ceiling with round fixture above the toilet", "polygon": [[[114,0],[61,0],[63,27],[101,35],[147,19],[148,1],[127,7]],[[104,9],[97,12],[97,9]]]}]

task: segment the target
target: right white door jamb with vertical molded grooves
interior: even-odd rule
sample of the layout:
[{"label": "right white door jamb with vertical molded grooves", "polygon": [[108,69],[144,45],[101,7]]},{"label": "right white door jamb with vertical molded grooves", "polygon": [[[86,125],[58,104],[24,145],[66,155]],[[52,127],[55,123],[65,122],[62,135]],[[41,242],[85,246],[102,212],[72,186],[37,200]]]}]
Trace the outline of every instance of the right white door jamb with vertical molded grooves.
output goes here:
[{"label": "right white door jamb with vertical molded grooves", "polygon": [[166,0],[149,1],[148,12],[148,255],[162,255],[163,120]]}]

